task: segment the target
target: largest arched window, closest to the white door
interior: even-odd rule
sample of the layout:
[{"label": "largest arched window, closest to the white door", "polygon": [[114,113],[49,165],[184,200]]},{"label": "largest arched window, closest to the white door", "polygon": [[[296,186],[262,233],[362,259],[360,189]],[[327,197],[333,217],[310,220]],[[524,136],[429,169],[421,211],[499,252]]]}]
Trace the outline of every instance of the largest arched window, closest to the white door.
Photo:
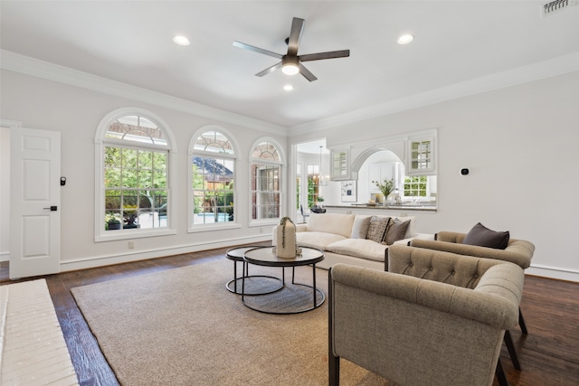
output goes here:
[{"label": "largest arched window, closest to the white door", "polygon": [[166,125],[145,110],[122,108],[100,121],[96,240],[175,233],[168,211],[172,143]]}]

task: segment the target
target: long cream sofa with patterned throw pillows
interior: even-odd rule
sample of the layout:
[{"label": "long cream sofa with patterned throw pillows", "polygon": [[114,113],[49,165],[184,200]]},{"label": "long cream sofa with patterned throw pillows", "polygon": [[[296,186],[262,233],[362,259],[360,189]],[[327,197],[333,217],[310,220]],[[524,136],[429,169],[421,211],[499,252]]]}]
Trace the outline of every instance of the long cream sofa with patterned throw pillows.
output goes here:
[{"label": "long cream sofa with patterned throw pillows", "polygon": [[[375,216],[388,218],[389,216]],[[311,213],[307,224],[296,225],[296,239],[300,247],[318,248],[325,259],[316,266],[330,268],[337,263],[384,270],[388,245],[365,238],[365,223],[371,215],[341,213]],[[410,221],[403,239],[397,244],[407,244],[414,239],[434,240],[432,234],[416,233],[415,217],[394,217],[397,221]],[[273,229],[273,245],[277,245],[277,227]]]}]

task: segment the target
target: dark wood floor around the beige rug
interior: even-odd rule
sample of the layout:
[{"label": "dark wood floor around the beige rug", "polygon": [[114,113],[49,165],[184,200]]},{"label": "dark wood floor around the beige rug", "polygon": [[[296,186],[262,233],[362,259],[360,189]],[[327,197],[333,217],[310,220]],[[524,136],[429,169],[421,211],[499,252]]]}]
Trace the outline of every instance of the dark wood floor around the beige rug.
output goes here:
[{"label": "dark wood floor around the beige rug", "polygon": [[[119,382],[71,296],[72,287],[225,259],[225,250],[44,277],[81,385],[117,385]],[[7,279],[7,269],[7,263],[0,264],[0,285],[13,283]],[[528,335],[521,334],[519,329],[512,330],[511,334],[522,371],[513,368],[505,347],[500,355],[509,384],[579,385],[579,283],[527,276],[521,309]]]}]

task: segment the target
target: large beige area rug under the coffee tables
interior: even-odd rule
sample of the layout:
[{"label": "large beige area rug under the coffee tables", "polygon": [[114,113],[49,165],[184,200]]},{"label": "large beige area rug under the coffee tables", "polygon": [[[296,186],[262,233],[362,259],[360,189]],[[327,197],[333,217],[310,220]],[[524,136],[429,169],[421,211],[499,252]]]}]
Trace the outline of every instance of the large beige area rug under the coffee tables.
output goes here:
[{"label": "large beige area rug under the coffee tables", "polygon": [[[311,271],[296,268],[296,281],[310,283]],[[251,274],[280,277],[281,269],[251,266]],[[232,277],[223,259],[71,292],[122,384],[326,385],[327,301],[302,314],[263,314],[225,288]],[[317,277],[327,294],[327,271]],[[341,367],[342,385],[387,384],[345,360]]]}]

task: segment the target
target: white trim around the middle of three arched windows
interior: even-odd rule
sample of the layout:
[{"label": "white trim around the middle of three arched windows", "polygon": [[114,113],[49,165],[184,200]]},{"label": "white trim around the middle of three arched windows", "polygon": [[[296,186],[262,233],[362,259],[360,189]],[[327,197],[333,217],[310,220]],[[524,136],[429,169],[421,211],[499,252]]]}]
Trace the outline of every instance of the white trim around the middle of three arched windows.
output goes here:
[{"label": "white trim around the middle of three arched windows", "polygon": [[[201,150],[195,150],[195,140],[197,139],[197,137],[201,136],[203,133],[207,132],[207,131],[217,131],[221,134],[223,134],[223,136],[227,137],[227,139],[229,140],[229,142],[232,144],[233,146],[233,155],[227,154],[227,153],[215,153],[215,152],[207,152],[207,151],[201,151]],[[240,165],[240,152],[239,152],[239,146],[235,140],[235,138],[233,137],[233,135],[225,128],[221,127],[221,126],[217,126],[217,125],[206,125],[204,127],[199,128],[197,131],[195,131],[194,135],[191,137],[191,140],[189,141],[189,151],[188,151],[188,160],[187,160],[187,232],[188,233],[195,233],[195,232],[204,232],[204,231],[223,231],[223,230],[234,230],[234,229],[240,229],[242,228],[242,224],[240,223],[240,221],[238,221],[239,219],[239,214],[237,212],[233,212],[235,213],[235,216],[233,217],[233,221],[231,222],[218,222],[218,223],[214,223],[214,224],[194,224],[193,223],[193,189],[191,188],[191,186],[193,185],[193,171],[192,171],[192,158],[195,155],[200,155],[200,156],[206,156],[206,157],[223,157],[223,158],[228,158],[228,159],[232,159],[234,161],[235,164],[235,169],[233,170],[233,206],[235,206],[235,202],[237,202],[237,174],[238,174],[238,170],[239,170],[239,165]],[[235,211],[235,209],[233,209],[233,211]]]}]

